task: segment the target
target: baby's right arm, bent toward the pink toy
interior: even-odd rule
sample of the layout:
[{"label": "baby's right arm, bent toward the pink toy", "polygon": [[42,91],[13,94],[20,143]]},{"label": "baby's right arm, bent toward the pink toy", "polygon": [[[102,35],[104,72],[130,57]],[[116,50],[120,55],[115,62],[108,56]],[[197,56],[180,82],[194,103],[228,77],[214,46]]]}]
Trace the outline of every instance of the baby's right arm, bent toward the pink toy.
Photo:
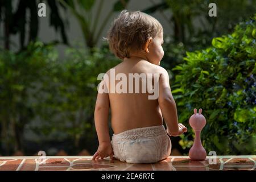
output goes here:
[{"label": "baby's right arm, bent toward the pink toy", "polygon": [[178,123],[176,103],[174,97],[172,97],[169,75],[164,68],[162,68],[162,73],[159,78],[158,102],[164,121],[166,122],[167,134],[179,136],[187,132],[187,128],[181,123]]}]

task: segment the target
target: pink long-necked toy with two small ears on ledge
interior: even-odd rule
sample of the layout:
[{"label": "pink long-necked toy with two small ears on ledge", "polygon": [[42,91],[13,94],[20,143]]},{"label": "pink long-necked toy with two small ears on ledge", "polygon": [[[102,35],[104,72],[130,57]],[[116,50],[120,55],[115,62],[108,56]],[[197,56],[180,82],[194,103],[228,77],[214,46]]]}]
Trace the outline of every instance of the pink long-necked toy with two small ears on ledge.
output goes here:
[{"label": "pink long-necked toy with two small ears on ledge", "polygon": [[199,114],[196,113],[196,109],[194,109],[193,115],[189,118],[189,125],[194,130],[196,137],[193,143],[192,148],[189,150],[189,158],[191,160],[204,160],[207,156],[207,153],[202,146],[201,143],[201,130],[204,128],[206,124],[206,119],[202,113],[202,109],[199,109]]}]

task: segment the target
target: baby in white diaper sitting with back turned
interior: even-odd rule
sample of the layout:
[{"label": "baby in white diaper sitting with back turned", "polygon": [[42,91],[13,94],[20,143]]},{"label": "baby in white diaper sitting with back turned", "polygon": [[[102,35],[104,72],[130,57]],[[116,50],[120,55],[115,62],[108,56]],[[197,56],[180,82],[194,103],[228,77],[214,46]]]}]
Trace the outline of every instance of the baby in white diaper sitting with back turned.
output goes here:
[{"label": "baby in white diaper sitting with back turned", "polygon": [[[166,159],[171,153],[168,135],[179,136],[187,128],[178,123],[168,72],[159,66],[164,55],[163,27],[141,11],[123,10],[107,40],[110,50],[123,61],[105,73],[100,85],[106,92],[98,89],[94,120],[99,146],[93,160],[109,156],[127,163],[155,163]],[[113,78],[113,73],[119,76]],[[157,97],[149,97],[152,88]]]}]

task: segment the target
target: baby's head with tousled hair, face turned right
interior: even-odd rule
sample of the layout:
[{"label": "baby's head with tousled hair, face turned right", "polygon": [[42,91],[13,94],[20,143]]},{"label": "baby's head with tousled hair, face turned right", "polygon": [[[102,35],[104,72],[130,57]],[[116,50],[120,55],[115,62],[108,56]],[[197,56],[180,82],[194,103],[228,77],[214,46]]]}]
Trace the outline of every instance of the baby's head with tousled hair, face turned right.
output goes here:
[{"label": "baby's head with tousled hair, face turned right", "polygon": [[163,27],[154,17],[141,11],[123,10],[107,36],[110,50],[120,59],[142,55],[150,63],[163,58]]}]

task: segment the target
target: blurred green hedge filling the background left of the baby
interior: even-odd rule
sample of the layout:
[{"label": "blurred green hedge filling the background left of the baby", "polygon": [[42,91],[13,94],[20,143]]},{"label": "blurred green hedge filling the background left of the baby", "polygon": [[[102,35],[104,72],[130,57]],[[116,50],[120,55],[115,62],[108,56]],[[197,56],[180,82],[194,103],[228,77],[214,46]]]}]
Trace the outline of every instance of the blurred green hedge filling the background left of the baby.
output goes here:
[{"label": "blurred green hedge filling the background left of the baby", "polygon": [[[55,48],[31,43],[19,53],[0,53],[1,154],[26,150],[26,142],[71,140],[69,154],[81,142],[96,138],[93,113],[99,73],[118,64],[107,47],[93,53],[69,48],[67,59],[57,59]],[[32,133],[31,135],[26,135]],[[85,140],[81,141],[81,138]],[[96,146],[87,146],[90,150]]]}]

